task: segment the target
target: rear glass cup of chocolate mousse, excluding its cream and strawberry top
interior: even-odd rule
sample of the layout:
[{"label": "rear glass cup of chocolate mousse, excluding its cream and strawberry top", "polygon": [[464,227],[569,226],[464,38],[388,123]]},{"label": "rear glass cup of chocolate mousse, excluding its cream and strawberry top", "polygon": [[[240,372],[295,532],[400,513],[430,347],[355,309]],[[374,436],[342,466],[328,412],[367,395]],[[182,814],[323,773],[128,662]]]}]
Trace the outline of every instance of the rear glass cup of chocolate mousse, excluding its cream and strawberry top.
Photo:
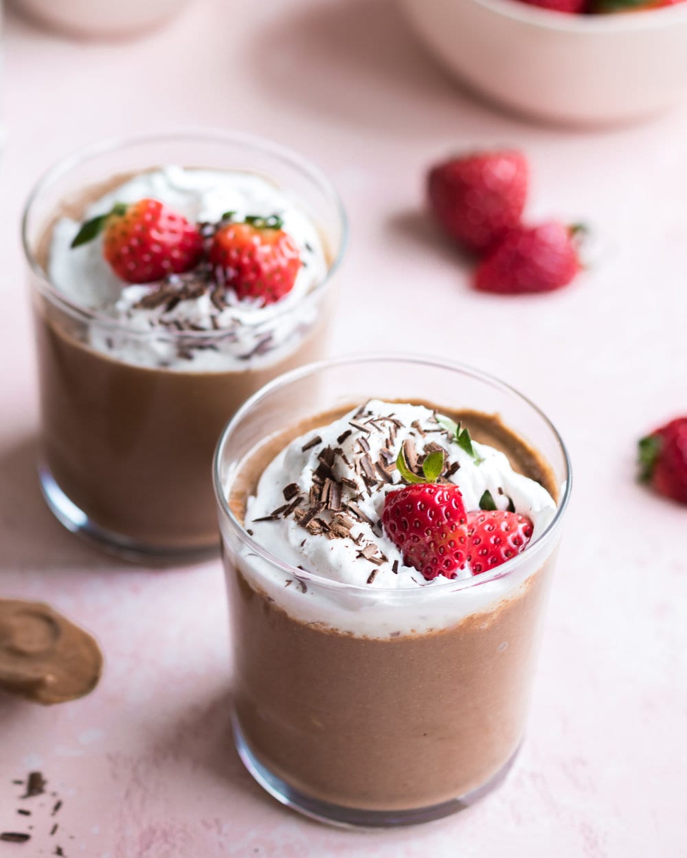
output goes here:
[{"label": "rear glass cup of chocolate mousse, excluding its cream and strawberry top", "polygon": [[[267,317],[204,330],[146,327],[58,288],[48,273],[58,219],[83,220],[103,190],[169,164],[276,186],[321,238],[321,280],[295,303],[264,308]],[[65,527],[131,558],[216,551],[216,440],[248,396],[324,352],[344,243],[343,208],[327,179],[300,155],[252,136],[204,130],[106,142],[40,180],[23,219],[40,376],[39,470]]]}]

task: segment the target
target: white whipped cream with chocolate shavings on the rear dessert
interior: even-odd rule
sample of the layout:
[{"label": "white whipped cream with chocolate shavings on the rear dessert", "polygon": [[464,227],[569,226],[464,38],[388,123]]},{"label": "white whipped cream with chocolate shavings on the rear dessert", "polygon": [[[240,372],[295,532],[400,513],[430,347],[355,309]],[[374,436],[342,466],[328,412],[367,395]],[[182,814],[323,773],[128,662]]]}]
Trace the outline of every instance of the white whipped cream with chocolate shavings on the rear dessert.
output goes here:
[{"label": "white whipped cream with chocolate shavings on the rear dessert", "polygon": [[[75,303],[105,313],[113,322],[140,334],[92,323],[91,345],[127,362],[192,372],[267,365],[292,351],[317,315],[317,308],[303,299],[325,280],[328,270],[322,239],[298,202],[256,173],[167,166],[139,173],[100,196],[90,203],[83,220],[105,214],[115,202],[137,202],[144,197],[160,200],[198,223],[219,221],[227,211],[239,220],[246,215],[279,215],[301,255],[295,286],[268,306],[259,306],[254,299],[232,298],[231,293],[227,304],[219,305],[207,290],[199,295],[191,288],[185,290],[181,275],[170,278],[168,300],[154,300],[154,305],[147,306],[144,299],[152,297],[159,286],[119,280],[103,257],[102,236],[71,248],[81,222],[64,217],[52,231],[48,258],[52,284]],[[207,331],[209,340],[196,336],[179,350],[175,342],[179,330]]]}]

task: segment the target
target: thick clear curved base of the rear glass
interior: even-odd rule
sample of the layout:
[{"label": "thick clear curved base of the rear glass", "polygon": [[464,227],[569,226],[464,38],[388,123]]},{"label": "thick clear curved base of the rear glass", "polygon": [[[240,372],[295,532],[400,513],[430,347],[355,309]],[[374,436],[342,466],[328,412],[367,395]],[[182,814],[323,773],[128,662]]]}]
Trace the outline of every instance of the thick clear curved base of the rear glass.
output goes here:
[{"label": "thick clear curved base of the rear glass", "polygon": [[108,554],[132,563],[145,565],[173,565],[199,563],[219,553],[219,535],[212,545],[193,548],[170,548],[147,545],[127,536],[100,527],[67,497],[46,462],[38,463],[40,490],[52,514],[71,533],[81,536],[90,545]]}]

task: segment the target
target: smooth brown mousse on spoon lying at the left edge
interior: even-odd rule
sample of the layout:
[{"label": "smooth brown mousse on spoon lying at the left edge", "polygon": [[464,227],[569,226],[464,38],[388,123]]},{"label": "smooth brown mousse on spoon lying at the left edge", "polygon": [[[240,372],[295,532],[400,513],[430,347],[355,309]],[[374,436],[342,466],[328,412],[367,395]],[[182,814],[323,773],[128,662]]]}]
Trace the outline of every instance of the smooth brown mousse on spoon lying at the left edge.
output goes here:
[{"label": "smooth brown mousse on spoon lying at the left edge", "polygon": [[0,690],[40,704],[93,691],[102,654],[88,632],[37,601],[0,599]]}]

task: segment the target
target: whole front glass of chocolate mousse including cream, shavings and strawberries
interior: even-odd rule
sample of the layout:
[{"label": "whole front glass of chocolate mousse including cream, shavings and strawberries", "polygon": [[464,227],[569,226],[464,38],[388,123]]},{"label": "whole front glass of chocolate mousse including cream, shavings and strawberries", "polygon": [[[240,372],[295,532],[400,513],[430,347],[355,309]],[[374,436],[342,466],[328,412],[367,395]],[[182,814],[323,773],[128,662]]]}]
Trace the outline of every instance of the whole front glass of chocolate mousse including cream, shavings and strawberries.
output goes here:
[{"label": "whole front glass of chocolate mousse including cream, shavings and strawberries", "polygon": [[214,481],[234,738],[264,789],[392,826],[501,782],[570,492],[544,414],[466,366],[316,363],[240,408]]}]

